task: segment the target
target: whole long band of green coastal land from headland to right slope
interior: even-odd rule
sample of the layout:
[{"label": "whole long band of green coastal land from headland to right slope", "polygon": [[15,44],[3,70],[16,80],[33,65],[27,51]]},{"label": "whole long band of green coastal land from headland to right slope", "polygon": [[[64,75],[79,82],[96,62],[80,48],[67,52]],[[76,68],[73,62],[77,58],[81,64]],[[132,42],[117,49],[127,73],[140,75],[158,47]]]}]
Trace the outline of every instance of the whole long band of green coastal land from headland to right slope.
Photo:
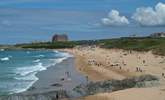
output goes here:
[{"label": "whole long band of green coastal land from headland to right slope", "polygon": [[21,48],[46,48],[60,49],[73,48],[76,46],[96,45],[102,48],[117,48],[135,51],[153,51],[154,54],[165,55],[165,38],[151,37],[124,37],[116,39],[100,39],[100,40],[81,40],[81,41],[65,41],[65,42],[39,42],[29,44],[18,44],[16,47]]}]

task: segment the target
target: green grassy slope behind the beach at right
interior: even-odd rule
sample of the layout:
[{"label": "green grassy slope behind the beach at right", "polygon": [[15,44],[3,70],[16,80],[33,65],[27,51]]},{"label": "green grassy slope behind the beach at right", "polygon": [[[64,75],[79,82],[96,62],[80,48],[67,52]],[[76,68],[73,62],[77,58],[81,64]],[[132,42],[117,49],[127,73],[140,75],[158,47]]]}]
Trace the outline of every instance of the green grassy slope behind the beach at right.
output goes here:
[{"label": "green grassy slope behind the beach at right", "polygon": [[121,38],[103,41],[103,48],[149,51],[165,55],[165,38]]}]

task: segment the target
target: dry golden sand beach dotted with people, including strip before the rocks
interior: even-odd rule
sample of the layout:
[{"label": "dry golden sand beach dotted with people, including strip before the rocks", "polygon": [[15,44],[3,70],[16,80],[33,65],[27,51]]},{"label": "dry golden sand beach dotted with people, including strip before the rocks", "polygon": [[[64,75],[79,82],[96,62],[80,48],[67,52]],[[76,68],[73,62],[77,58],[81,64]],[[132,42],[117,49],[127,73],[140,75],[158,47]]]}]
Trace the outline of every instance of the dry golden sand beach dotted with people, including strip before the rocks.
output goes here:
[{"label": "dry golden sand beach dotted with people, including strip before the rocks", "polygon": [[164,100],[165,99],[165,57],[149,52],[77,47],[67,49],[76,57],[76,67],[92,81],[104,81],[154,75],[160,79],[159,86],[133,88],[112,93],[99,93],[85,97],[85,100]]}]

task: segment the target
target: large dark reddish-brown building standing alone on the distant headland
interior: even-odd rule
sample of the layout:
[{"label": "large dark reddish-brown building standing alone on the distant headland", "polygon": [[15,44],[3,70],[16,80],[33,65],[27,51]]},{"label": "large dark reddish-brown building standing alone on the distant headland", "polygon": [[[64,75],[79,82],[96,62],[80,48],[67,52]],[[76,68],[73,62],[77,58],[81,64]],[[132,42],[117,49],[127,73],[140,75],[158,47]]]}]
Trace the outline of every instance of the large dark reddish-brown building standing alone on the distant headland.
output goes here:
[{"label": "large dark reddish-brown building standing alone on the distant headland", "polygon": [[62,41],[68,41],[68,36],[66,34],[55,34],[52,37],[52,42],[62,42]]}]

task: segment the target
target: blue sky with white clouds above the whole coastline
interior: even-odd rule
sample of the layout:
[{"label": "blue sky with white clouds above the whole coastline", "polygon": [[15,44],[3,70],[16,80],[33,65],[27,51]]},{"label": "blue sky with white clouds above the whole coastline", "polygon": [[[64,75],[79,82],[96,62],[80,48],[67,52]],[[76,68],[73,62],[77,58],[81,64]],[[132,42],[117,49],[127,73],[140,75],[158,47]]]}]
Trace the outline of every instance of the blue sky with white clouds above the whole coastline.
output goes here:
[{"label": "blue sky with white clouds above the whole coastline", "polygon": [[164,0],[0,0],[0,44],[165,32]]}]

